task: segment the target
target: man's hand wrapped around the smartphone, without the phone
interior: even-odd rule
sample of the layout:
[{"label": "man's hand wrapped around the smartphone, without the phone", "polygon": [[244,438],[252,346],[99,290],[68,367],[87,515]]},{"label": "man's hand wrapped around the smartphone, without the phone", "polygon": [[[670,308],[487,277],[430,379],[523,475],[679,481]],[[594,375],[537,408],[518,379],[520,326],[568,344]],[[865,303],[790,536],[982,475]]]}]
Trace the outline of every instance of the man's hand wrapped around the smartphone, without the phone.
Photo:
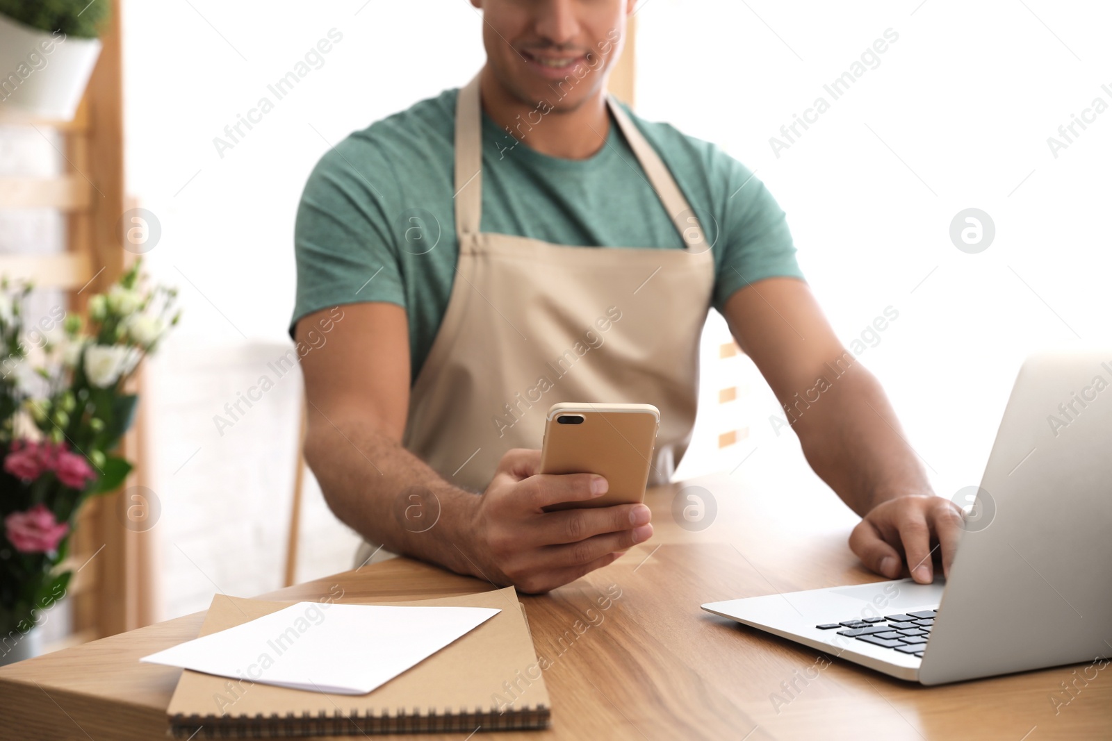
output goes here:
[{"label": "man's hand wrapped around the smartphone, without the phone", "polygon": [[544,512],[550,504],[600,497],[606,480],[593,473],[540,474],[539,469],[539,450],[510,450],[477,499],[467,549],[476,577],[523,592],[547,592],[652,537],[652,514],[644,504]]}]

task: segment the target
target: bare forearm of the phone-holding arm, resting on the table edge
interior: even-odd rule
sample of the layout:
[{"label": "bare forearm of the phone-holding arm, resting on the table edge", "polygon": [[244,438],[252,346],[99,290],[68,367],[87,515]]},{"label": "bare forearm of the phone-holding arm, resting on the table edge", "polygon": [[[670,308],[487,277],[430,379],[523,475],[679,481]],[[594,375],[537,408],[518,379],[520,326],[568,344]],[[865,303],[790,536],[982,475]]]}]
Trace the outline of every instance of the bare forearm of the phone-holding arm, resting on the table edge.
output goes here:
[{"label": "bare forearm of the phone-holding arm, resting on the table edge", "polygon": [[467,538],[476,494],[371,424],[328,420],[314,408],[309,414],[306,460],[340,520],[389,551],[479,575]]}]

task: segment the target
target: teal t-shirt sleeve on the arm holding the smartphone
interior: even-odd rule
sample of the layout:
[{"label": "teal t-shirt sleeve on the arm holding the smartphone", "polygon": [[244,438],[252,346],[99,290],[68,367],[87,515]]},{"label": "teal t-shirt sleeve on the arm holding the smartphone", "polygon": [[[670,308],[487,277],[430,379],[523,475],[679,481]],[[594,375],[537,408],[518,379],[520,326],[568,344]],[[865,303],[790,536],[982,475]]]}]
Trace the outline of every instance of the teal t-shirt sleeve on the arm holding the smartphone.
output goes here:
[{"label": "teal t-shirt sleeve on the arm holding the smartphone", "polygon": [[375,144],[348,137],[306,182],[294,227],[299,319],[342,303],[388,301],[405,308],[397,244],[384,190],[389,163]]}]

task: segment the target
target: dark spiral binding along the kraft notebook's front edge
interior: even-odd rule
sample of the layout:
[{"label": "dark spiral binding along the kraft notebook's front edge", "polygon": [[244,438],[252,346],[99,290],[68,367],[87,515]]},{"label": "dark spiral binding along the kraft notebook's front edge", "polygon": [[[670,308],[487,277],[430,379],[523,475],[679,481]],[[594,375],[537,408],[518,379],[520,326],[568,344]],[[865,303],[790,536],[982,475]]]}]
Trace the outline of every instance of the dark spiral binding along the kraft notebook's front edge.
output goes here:
[{"label": "dark spiral binding along the kraft notebook's front edge", "polygon": [[173,715],[170,733],[176,739],[275,739],[307,735],[359,735],[366,733],[427,733],[465,732],[483,728],[492,731],[513,731],[548,728],[552,711],[546,705],[489,712],[438,713],[430,709],[427,713],[414,709],[413,712],[398,710],[395,714],[345,714],[337,709],[309,712],[297,715]]}]

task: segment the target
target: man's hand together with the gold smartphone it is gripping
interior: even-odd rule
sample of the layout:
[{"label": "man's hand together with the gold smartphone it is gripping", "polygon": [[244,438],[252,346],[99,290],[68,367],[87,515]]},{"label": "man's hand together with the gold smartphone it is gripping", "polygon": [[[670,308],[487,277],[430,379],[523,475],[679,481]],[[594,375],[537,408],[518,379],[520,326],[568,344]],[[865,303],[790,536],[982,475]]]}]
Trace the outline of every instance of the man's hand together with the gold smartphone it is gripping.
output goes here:
[{"label": "man's hand together with the gold smartphone it is gripping", "polygon": [[503,455],[474,510],[476,575],[547,592],[648,540],[659,420],[652,404],[554,404],[544,450]]}]

